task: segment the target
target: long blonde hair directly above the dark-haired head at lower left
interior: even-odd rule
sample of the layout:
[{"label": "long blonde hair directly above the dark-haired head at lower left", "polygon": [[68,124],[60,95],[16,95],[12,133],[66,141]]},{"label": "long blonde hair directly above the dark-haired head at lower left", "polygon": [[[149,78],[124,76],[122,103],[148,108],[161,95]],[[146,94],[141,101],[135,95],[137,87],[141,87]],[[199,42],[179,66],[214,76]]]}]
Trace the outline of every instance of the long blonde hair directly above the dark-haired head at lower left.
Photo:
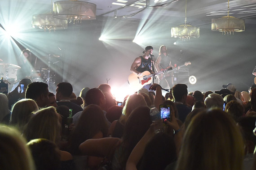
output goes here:
[{"label": "long blonde hair directly above the dark-haired head at lower left", "polygon": [[28,141],[44,138],[57,144],[61,138],[60,120],[61,117],[53,106],[38,110],[27,123],[24,136]]}]

